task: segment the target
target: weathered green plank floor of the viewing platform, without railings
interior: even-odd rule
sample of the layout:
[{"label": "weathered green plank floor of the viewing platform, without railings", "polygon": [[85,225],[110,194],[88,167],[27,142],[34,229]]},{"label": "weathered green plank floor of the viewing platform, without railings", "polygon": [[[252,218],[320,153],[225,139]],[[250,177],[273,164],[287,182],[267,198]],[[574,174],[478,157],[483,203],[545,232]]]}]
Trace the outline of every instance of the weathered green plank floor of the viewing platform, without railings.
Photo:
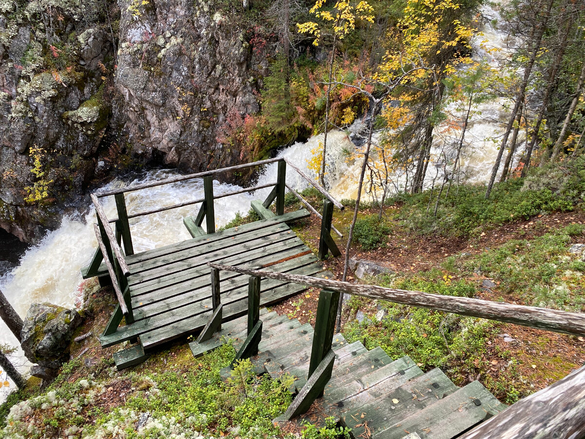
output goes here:
[{"label": "weathered green plank floor of the viewing platform, without railings", "polygon": [[[212,307],[208,262],[308,276],[322,272],[317,257],[286,224],[308,216],[305,210],[291,212],[126,256],[135,321],[102,335],[102,347],[137,338],[138,346],[116,355],[116,363],[122,366],[133,359],[133,363],[139,362],[139,357],[161,344],[201,330]],[[223,321],[247,313],[247,282],[245,275],[221,273]],[[284,300],[305,288],[265,279],[261,283],[261,306]],[[125,358],[128,356],[131,358]]]}]

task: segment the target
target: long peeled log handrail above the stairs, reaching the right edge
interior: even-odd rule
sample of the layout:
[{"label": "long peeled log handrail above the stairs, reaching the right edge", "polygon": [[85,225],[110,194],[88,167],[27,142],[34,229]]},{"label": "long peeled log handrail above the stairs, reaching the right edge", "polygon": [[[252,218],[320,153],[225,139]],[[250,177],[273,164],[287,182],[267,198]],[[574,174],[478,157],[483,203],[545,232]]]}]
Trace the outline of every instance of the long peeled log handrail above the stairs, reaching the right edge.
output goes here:
[{"label": "long peeled log handrail above the stairs, reaching the right edge", "polygon": [[285,280],[311,287],[335,290],[340,293],[369,297],[370,299],[387,300],[394,303],[431,308],[432,310],[445,311],[446,313],[487,318],[488,320],[513,323],[547,331],[563,332],[564,334],[585,334],[585,314],[580,313],[569,313],[567,311],[499,303],[489,300],[469,299],[469,297],[441,296],[441,294],[429,294],[423,293],[422,291],[353,284],[340,282],[339,280],[245,269],[216,263],[208,263],[208,265],[220,270],[242,273],[244,275]]}]

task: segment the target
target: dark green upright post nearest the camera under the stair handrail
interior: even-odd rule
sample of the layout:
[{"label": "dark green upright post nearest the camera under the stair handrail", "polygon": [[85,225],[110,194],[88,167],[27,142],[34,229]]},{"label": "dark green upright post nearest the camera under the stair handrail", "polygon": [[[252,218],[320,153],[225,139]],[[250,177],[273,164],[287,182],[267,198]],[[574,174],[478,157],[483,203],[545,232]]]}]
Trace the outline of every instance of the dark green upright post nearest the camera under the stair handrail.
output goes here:
[{"label": "dark green upright post nearest the camera under the stair handrail", "polygon": [[[331,201],[329,202],[331,203]],[[333,205],[333,204],[332,204]],[[318,368],[325,355],[331,349],[333,334],[335,334],[335,318],[339,302],[339,292],[321,290],[315,318],[315,335],[311,349],[311,363],[309,365],[309,378]]]}]

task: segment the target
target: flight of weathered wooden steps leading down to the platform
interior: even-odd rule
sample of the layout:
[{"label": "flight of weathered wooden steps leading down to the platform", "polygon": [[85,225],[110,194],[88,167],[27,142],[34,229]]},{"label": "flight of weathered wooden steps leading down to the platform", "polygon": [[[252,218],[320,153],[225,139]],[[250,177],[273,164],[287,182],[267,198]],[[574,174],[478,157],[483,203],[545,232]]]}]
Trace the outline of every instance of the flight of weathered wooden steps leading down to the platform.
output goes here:
[{"label": "flight of weathered wooden steps leading down to the platform", "polygon": [[[259,353],[252,357],[257,372],[278,378],[295,377],[291,392],[307,383],[313,330],[311,325],[285,315],[260,313],[263,332]],[[208,341],[190,344],[195,356],[232,339],[238,350],[247,335],[246,317],[223,324]],[[391,359],[377,347],[333,337],[335,365],[321,400],[309,412],[312,422],[333,416],[352,428],[355,438],[450,439],[504,410],[480,382],[457,387],[441,371],[423,373],[408,356]]]}]

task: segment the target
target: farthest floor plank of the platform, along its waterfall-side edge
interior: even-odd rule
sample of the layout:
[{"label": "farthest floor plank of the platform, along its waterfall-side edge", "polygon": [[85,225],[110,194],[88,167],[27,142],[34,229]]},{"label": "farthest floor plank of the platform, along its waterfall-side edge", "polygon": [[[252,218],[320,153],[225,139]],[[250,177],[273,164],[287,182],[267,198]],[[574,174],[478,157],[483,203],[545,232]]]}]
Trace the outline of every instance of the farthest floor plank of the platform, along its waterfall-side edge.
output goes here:
[{"label": "farthest floor plank of the platform, along its waterfall-side edge", "polygon": [[[224,240],[227,241],[228,239],[232,238],[244,239],[250,232],[258,231],[261,229],[275,228],[276,230],[276,228],[280,227],[280,230],[289,230],[286,223],[297,221],[298,219],[302,218],[308,218],[309,216],[310,213],[306,209],[288,212],[284,215],[281,215],[280,217],[274,217],[271,219],[261,219],[260,221],[254,221],[250,222],[249,224],[243,224],[238,227],[215,232],[215,234],[212,235],[205,235],[200,238],[187,239],[187,241],[181,241],[178,243],[162,246],[146,252],[135,253],[134,255],[128,256],[128,258],[126,258],[126,262],[130,266],[133,265],[132,270],[135,270],[136,267],[142,266],[142,264],[147,260],[160,258],[162,256],[173,255],[174,253],[181,251],[190,250],[194,253],[197,253],[196,248],[199,248],[200,246],[205,246],[213,242],[219,242]],[[102,265],[99,267],[99,272],[97,273],[97,276],[101,276],[104,274],[106,274],[106,268],[105,265],[102,263]]]}]

